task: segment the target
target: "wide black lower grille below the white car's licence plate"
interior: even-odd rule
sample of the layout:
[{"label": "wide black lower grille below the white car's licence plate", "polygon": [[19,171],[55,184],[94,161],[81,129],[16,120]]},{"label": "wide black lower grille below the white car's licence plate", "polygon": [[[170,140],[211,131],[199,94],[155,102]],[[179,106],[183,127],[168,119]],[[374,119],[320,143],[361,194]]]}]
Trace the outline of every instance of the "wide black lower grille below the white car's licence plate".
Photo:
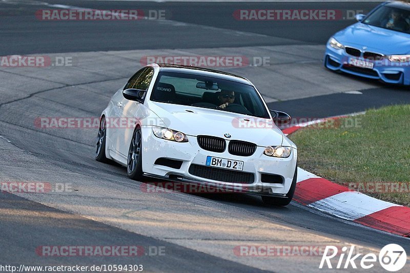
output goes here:
[{"label": "wide black lower grille below the white car's licence plate", "polygon": [[198,164],[191,164],[188,171],[194,176],[221,182],[252,184],[255,181],[252,173],[224,170]]}]

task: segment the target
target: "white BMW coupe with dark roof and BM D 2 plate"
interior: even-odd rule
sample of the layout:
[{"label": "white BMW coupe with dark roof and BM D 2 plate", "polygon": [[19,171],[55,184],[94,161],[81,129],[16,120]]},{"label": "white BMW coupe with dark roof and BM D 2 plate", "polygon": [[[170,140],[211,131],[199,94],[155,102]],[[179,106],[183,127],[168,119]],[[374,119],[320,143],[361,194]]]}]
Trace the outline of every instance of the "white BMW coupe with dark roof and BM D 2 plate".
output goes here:
[{"label": "white BMW coupe with dark roof and BM D 2 plate", "polygon": [[196,67],[151,64],[112,97],[100,118],[95,158],[146,177],[245,189],[267,205],[288,205],[297,148],[243,77]]}]

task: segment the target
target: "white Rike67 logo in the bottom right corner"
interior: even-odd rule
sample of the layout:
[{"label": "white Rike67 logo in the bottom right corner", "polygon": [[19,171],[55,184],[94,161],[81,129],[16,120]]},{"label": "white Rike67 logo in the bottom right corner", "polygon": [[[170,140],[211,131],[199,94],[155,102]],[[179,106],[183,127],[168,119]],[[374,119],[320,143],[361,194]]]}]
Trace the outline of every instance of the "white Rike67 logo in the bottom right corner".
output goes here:
[{"label": "white Rike67 logo in the bottom right corner", "polygon": [[[377,257],[374,253],[369,253],[359,258],[363,254],[356,254],[355,246],[352,245],[350,249],[347,246],[342,247],[342,253],[338,253],[338,248],[336,246],[326,246],[320,261],[319,268],[323,268],[324,265],[327,268],[357,268],[356,263],[360,263],[360,267],[363,269],[370,269],[375,266],[377,258],[379,258],[380,265],[387,271],[398,271],[404,267],[407,261],[406,251],[403,247],[398,244],[388,244],[384,246]],[[346,259],[344,257],[347,255]],[[336,267],[333,263],[332,258],[339,256]],[[337,260],[337,258],[335,259]]]}]

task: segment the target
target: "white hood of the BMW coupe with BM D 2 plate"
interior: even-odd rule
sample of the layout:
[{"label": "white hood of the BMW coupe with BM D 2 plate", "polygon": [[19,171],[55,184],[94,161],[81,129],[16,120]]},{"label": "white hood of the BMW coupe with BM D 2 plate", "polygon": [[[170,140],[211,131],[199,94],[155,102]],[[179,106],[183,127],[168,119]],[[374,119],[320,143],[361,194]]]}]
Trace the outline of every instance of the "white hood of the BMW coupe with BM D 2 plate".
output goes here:
[{"label": "white hood of the BMW coupe with BM D 2 plate", "polygon": [[187,135],[208,135],[228,140],[253,142],[258,146],[281,145],[283,133],[270,119],[251,117],[214,109],[148,102],[150,108],[169,129]]}]

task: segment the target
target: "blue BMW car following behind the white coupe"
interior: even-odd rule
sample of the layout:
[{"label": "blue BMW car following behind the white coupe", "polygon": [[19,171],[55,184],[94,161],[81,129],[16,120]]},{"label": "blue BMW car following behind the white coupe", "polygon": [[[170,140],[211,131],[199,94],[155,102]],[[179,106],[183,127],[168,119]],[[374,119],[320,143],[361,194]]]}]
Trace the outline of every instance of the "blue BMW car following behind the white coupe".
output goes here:
[{"label": "blue BMW car following behind the white coupe", "polygon": [[327,42],[324,66],[334,71],[410,85],[410,1],[385,2]]}]

